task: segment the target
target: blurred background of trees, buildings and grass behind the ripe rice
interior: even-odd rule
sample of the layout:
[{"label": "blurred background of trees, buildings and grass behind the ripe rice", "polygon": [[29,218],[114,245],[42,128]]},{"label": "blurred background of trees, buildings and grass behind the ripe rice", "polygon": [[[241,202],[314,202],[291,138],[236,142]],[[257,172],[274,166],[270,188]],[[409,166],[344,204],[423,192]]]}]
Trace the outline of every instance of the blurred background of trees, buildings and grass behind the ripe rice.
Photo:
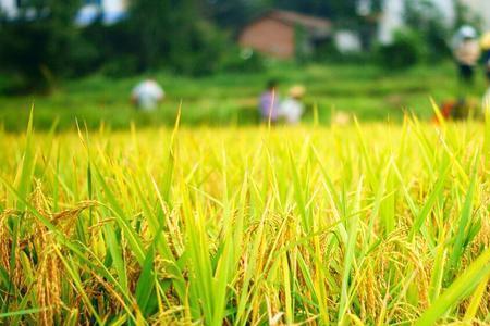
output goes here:
[{"label": "blurred background of trees, buildings and grass behind the ripe rice", "polygon": [[[453,41],[490,30],[488,0],[0,0],[0,125],[114,129],[259,123],[258,97],[306,89],[304,121],[430,118],[461,98]],[[136,110],[145,79],[164,90]],[[465,97],[487,85],[477,72]]]}]

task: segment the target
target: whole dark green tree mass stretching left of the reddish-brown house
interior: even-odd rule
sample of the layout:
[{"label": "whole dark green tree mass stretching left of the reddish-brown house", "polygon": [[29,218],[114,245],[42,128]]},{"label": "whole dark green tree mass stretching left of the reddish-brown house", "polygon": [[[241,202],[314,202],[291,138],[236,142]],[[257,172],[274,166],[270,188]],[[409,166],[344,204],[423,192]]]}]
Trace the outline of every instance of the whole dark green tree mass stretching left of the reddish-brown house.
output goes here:
[{"label": "whole dark green tree mass stretching left of the reddish-brown house", "polygon": [[[225,66],[231,40],[204,18],[198,1],[135,0],[126,20],[76,27],[79,0],[25,3],[0,25],[0,63],[8,87],[52,89],[63,77],[101,70],[122,77],[145,71],[205,75]],[[33,15],[33,10],[35,15]]]}]

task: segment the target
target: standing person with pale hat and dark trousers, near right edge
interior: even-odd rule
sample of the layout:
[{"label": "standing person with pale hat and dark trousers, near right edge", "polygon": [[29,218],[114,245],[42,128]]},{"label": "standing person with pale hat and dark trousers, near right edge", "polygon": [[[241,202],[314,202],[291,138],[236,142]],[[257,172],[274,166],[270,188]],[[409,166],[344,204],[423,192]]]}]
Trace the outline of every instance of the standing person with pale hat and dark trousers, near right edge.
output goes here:
[{"label": "standing person with pale hat and dark trousers, near right edge", "polygon": [[471,26],[463,26],[454,39],[454,58],[460,70],[460,80],[466,85],[473,84],[475,66],[480,58],[480,46],[477,32]]}]

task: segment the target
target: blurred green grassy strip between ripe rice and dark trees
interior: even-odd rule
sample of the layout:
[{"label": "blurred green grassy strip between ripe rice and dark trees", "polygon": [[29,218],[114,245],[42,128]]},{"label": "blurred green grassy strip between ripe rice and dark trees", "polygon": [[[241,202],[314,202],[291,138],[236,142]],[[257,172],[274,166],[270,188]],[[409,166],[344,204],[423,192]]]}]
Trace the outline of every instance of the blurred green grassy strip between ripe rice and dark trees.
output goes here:
[{"label": "blurred green grassy strip between ripe rice and dark trees", "polygon": [[[50,96],[0,97],[0,126],[11,131],[24,130],[33,104],[37,129],[49,129],[57,118],[59,129],[73,128],[75,118],[86,122],[91,129],[101,122],[113,129],[128,128],[132,121],[137,126],[172,125],[181,101],[184,125],[253,125],[258,121],[257,97],[270,77],[280,80],[282,95],[293,84],[304,84],[308,89],[305,120],[313,120],[313,108],[317,105],[323,124],[329,123],[332,111],[355,113],[362,121],[401,122],[405,110],[427,120],[432,114],[429,97],[442,102],[457,96],[451,63],[404,72],[375,65],[274,64],[260,73],[205,78],[160,73],[155,77],[168,95],[156,113],[138,113],[130,104],[131,89],[140,78],[110,79],[96,75],[62,84]],[[478,75],[476,97],[483,93],[483,84]]]}]

